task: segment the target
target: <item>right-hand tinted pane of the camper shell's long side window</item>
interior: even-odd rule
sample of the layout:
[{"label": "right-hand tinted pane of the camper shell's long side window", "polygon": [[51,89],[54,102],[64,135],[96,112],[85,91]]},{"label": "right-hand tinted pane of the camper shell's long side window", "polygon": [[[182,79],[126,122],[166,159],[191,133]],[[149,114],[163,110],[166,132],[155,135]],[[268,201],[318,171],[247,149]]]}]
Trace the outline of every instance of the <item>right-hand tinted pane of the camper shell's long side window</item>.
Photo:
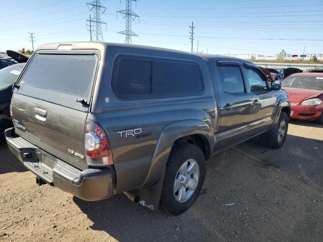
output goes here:
[{"label": "right-hand tinted pane of the camper shell's long side window", "polygon": [[190,63],[153,63],[153,94],[194,93],[203,90],[198,65]]}]

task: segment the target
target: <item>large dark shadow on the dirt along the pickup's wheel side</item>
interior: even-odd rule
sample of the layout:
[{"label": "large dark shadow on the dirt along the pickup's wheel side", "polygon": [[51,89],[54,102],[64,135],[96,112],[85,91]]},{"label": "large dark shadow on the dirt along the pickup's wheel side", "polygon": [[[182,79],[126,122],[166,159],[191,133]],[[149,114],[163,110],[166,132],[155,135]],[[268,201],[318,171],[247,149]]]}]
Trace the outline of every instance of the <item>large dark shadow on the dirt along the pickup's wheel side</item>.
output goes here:
[{"label": "large dark shadow on the dirt along the pickup's wheel side", "polygon": [[[322,214],[298,211],[319,198],[300,192],[299,181],[310,185],[315,178],[316,186],[323,188],[323,163],[319,162],[323,151],[313,148],[322,145],[320,140],[288,135],[286,144],[278,150],[259,147],[253,139],[214,155],[207,162],[198,200],[180,216],[168,215],[160,208],[153,214],[123,194],[97,202],[76,197],[73,201],[93,222],[91,229],[105,231],[119,241],[278,241],[273,234],[281,228],[290,230],[277,235],[283,236],[282,240],[302,241],[306,236],[315,240],[318,233],[306,230],[302,224],[312,223],[312,219],[322,222],[318,217]],[[277,173],[277,169],[289,176]],[[287,182],[290,176],[294,179]],[[277,202],[277,197],[296,209],[288,210],[284,203]],[[223,206],[226,203],[236,205]],[[264,214],[264,210],[273,212]],[[294,221],[294,228],[302,227],[302,234],[286,227],[290,221]]]}]

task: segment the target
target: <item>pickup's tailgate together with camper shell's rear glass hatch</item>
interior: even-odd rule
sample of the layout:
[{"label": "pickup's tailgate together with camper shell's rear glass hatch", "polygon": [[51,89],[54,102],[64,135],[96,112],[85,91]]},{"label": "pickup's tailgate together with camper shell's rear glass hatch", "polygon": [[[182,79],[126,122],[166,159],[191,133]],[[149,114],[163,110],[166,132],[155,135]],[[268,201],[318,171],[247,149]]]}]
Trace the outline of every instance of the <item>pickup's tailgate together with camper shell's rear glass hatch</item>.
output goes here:
[{"label": "pickup's tailgate together with camper shell's rear glass hatch", "polygon": [[86,168],[84,126],[97,66],[93,52],[34,55],[12,98],[16,133],[49,154]]}]

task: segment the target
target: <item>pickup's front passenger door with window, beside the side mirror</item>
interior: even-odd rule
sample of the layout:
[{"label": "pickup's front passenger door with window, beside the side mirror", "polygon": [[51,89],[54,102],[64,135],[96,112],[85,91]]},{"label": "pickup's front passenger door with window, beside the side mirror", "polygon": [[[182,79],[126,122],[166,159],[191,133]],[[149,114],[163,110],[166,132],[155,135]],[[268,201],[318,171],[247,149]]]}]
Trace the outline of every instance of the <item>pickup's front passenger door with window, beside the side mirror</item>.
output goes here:
[{"label": "pickup's front passenger door with window, beside the side mirror", "polygon": [[274,118],[276,95],[271,92],[267,78],[253,65],[245,65],[244,72],[252,98],[252,135],[260,134],[271,128]]}]

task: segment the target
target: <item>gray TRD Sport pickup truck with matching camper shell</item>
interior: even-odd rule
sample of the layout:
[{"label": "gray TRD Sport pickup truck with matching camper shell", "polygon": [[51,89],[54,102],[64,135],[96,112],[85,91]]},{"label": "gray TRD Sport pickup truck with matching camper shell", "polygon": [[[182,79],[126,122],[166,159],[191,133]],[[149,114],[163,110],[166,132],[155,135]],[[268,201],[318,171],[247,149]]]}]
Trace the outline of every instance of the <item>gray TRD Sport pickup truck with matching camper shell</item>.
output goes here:
[{"label": "gray TRD Sport pickup truck with matching camper shell", "polygon": [[87,201],[124,193],[186,211],[205,161],[260,135],[280,148],[290,103],[251,62],[146,46],[41,45],[14,85],[10,150],[47,183]]}]

